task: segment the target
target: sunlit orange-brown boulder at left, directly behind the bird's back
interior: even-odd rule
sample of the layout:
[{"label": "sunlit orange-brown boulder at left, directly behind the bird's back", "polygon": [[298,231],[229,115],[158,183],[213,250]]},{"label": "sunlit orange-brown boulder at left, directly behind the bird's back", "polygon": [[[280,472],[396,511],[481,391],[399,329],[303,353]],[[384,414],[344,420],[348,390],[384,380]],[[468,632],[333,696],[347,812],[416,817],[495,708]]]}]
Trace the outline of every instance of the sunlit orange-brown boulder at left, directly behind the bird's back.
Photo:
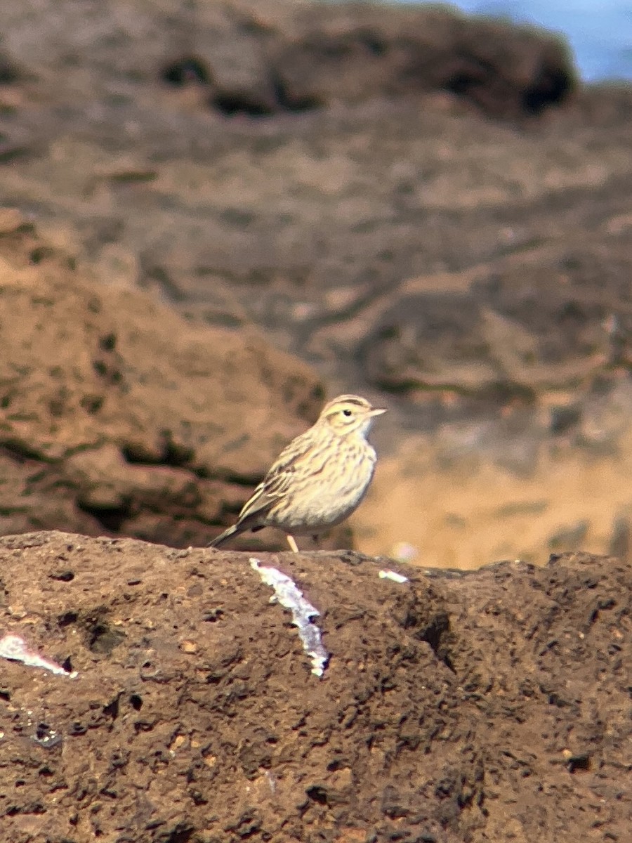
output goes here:
[{"label": "sunlit orange-brown boulder at left, directly behind the bird's back", "polygon": [[0,529],[204,544],[313,421],[315,374],[255,331],[90,285],[18,214],[0,223]]}]

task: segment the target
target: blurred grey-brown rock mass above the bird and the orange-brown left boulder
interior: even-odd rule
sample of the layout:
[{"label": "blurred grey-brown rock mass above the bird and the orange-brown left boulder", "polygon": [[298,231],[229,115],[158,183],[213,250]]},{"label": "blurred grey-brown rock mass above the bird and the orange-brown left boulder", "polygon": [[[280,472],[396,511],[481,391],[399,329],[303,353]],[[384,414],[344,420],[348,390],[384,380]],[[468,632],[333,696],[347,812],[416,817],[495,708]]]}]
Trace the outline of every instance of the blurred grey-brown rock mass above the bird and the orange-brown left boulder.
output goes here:
[{"label": "blurred grey-brown rock mass above the bird and the orange-brown left boulder", "polygon": [[33,51],[5,7],[11,89],[38,103],[12,131],[46,174],[8,189],[104,281],[411,402],[495,410],[626,365],[629,95],[579,89],[556,36],[438,8],[65,0]]}]

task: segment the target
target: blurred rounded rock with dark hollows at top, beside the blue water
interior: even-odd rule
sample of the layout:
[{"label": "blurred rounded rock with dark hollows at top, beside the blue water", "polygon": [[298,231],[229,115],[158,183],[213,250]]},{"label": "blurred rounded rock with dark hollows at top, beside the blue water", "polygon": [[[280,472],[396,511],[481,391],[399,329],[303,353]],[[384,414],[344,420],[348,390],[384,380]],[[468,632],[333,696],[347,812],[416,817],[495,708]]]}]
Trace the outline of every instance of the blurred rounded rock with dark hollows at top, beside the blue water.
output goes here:
[{"label": "blurred rounded rock with dark hollows at top, beside the blue water", "polygon": [[335,6],[324,15],[309,4],[292,29],[292,40],[277,39],[271,53],[290,103],[323,107],[440,90],[507,117],[537,114],[576,86],[560,40],[445,9],[384,14],[366,3]]}]

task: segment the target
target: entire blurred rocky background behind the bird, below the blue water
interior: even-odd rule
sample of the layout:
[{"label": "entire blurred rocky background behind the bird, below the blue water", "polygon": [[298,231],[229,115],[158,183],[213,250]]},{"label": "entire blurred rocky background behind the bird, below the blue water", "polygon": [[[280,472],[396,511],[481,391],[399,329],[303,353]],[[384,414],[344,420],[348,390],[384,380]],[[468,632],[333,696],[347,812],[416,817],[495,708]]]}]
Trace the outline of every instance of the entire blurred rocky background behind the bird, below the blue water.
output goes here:
[{"label": "entire blurred rocky background behind the bird, below the blue water", "polygon": [[201,545],[351,390],[391,410],[358,549],[629,553],[629,86],[439,8],[24,0],[0,34],[3,533]]}]

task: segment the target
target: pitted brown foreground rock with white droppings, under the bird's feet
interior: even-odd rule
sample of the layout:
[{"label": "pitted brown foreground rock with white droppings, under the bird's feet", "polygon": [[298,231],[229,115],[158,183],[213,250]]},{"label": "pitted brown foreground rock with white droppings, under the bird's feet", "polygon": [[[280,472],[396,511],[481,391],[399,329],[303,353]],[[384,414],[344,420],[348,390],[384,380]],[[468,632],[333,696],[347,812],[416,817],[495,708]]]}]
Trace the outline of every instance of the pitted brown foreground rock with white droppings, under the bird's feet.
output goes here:
[{"label": "pitted brown foreground rock with white droppings, under the bird's feet", "polygon": [[78,671],[3,662],[4,839],[628,839],[629,564],[261,561],[320,609],[323,679],[246,554],[0,540],[4,633]]}]

